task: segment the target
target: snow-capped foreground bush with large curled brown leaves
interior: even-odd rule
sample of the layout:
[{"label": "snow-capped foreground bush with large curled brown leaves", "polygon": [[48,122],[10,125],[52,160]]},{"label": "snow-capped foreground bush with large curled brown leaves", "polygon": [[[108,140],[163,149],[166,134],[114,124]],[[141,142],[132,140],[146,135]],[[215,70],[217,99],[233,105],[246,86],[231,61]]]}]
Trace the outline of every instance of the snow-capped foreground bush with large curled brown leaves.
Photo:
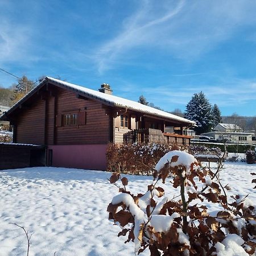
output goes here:
[{"label": "snow-capped foreground bush with large curled brown leaves", "polygon": [[[187,152],[167,152],[156,164],[146,193],[138,195],[127,190],[126,177],[113,173],[110,183],[121,193],[113,197],[108,212],[109,219],[122,228],[118,236],[128,234],[126,242],[133,241],[137,253],[148,247],[154,256],[253,255],[255,205],[247,197],[228,198],[226,190],[230,188],[220,182],[221,167],[213,172],[201,168]],[[170,175],[170,184],[180,191],[178,197],[166,196],[164,189],[157,187]],[[222,210],[210,213],[205,201]]]}]

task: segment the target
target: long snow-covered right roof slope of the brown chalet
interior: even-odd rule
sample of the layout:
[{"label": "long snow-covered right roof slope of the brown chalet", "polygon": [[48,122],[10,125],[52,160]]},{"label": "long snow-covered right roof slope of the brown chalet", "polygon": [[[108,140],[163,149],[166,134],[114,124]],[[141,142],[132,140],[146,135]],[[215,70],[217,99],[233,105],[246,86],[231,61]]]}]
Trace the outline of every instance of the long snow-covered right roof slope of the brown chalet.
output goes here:
[{"label": "long snow-covered right roof slope of the brown chalet", "polygon": [[127,109],[130,109],[130,110],[137,110],[138,112],[158,115],[160,117],[165,117],[165,118],[174,119],[176,121],[190,123],[191,125],[195,124],[194,121],[188,120],[188,119],[183,118],[183,117],[179,117],[179,116],[171,114],[171,113],[164,112],[164,111],[159,110],[159,109],[151,108],[150,106],[143,105],[143,104],[141,104],[139,102],[136,102],[136,101],[131,101],[131,100],[127,100],[126,98],[121,98],[121,97],[117,97],[117,96],[114,96],[114,95],[111,95],[111,94],[98,92],[97,90],[92,90],[92,89],[85,88],[85,87],[80,86],[80,85],[75,85],[75,84],[71,84],[69,82],[64,82],[64,81],[61,81],[61,80],[53,79],[52,77],[46,77],[46,79],[48,81],[53,81],[53,82],[57,82],[59,84],[68,86],[69,88],[77,89],[82,93],[88,94],[88,96],[93,96],[94,98],[97,98],[98,100],[104,101],[104,102],[106,102],[110,105],[120,106],[122,108],[127,108]]}]

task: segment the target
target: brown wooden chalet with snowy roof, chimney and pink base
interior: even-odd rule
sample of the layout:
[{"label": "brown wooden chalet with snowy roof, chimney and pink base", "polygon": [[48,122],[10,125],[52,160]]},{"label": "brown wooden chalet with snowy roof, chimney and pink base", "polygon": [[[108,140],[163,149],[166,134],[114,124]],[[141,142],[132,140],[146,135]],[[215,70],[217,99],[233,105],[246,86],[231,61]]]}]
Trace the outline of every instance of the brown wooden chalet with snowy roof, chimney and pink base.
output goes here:
[{"label": "brown wooden chalet with snowy roof, chimney and pink base", "polygon": [[0,120],[14,126],[14,143],[46,150],[46,164],[105,170],[106,148],[114,143],[189,144],[195,123],[139,102],[46,77]]}]

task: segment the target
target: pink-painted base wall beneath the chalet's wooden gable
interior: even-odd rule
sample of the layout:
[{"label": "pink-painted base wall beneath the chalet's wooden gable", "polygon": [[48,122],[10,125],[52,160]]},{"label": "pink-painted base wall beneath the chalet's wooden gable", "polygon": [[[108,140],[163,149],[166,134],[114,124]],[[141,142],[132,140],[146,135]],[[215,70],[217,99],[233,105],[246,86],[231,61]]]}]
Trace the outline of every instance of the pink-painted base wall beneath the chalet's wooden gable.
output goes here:
[{"label": "pink-painted base wall beneath the chalet's wooden gable", "polygon": [[52,166],[106,170],[106,144],[53,145]]}]

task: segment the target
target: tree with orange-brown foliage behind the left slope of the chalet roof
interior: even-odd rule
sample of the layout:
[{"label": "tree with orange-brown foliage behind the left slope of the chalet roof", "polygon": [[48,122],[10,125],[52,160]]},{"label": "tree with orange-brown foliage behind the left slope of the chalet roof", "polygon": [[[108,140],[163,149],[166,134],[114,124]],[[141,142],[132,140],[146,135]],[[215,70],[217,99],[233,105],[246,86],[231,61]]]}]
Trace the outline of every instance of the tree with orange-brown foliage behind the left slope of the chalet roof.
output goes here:
[{"label": "tree with orange-brown foliage behind the left slope of the chalet roof", "polygon": [[24,97],[27,93],[29,93],[32,89],[35,88],[35,83],[31,80],[28,80],[26,76],[23,76],[18,80],[18,84],[15,84],[14,88],[14,96],[11,98],[13,104],[19,101],[22,97]]}]

